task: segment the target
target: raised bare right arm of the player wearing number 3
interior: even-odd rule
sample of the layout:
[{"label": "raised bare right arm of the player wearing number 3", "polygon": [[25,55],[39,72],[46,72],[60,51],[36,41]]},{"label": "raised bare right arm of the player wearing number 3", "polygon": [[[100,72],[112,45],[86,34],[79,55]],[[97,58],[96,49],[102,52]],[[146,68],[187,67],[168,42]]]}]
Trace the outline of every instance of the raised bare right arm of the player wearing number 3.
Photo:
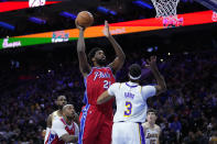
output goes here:
[{"label": "raised bare right arm of the player wearing number 3", "polygon": [[160,74],[159,68],[156,66],[156,56],[151,56],[150,59],[147,59],[147,67],[151,69],[158,82],[158,85],[155,86],[156,95],[166,91],[164,77]]}]

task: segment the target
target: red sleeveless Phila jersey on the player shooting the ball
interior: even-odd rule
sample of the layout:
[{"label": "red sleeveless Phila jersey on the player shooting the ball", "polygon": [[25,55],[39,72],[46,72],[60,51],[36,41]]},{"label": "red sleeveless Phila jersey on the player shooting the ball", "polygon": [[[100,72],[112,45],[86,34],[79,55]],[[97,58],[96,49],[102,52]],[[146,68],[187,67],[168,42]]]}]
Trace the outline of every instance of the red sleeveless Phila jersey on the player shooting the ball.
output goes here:
[{"label": "red sleeveless Phila jersey on the player shooting the ball", "polygon": [[[84,102],[86,104],[97,106],[98,97],[115,81],[116,78],[110,67],[93,67],[89,75],[85,78],[86,91]],[[108,111],[108,109],[112,108],[112,101],[110,100],[97,107]]]}]

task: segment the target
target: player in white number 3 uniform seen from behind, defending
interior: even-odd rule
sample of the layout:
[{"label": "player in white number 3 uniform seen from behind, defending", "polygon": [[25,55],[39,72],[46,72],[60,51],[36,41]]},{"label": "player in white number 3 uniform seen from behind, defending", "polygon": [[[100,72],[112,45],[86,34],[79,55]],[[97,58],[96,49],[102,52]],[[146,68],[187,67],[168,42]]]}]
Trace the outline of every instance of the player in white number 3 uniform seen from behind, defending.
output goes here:
[{"label": "player in white number 3 uniform seen from behind, defending", "polygon": [[164,78],[156,66],[156,57],[152,56],[148,64],[147,67],[152,70],[158,81],[156,86],[140,86],[141,67],[133,64],[129,69],[130,81],[115,82],[97,99],[97,104],[101,104],[116,97],[112,144],[144,144],[141,123],[147,118],[147,99],[166,90]]}]

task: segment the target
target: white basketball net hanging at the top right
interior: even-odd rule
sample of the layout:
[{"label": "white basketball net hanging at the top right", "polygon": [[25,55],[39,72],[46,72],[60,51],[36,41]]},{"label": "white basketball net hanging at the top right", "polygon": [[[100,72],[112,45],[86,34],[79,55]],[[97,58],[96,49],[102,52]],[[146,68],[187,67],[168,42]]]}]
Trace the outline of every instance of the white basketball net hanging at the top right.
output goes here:
[{"label": "white basketball net hanging at the top right", "polygon": [[156,10],[156,18],[176,16],[180,0],[151,0]]}]

